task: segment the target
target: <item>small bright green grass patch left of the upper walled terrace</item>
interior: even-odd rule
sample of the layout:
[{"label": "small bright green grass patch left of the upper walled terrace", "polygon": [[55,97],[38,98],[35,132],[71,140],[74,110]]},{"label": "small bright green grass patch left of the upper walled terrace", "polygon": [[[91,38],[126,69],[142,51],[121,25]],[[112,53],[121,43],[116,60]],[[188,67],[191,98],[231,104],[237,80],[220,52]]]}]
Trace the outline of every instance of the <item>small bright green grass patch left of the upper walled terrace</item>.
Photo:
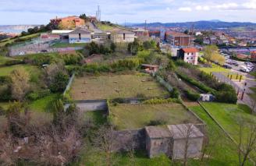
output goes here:
[{"label": "small bright green grass patch left of the upper walled terrace", "polygon": [[59,99],[59,94],[51,94],[47,97],[43,97],[37,101],[30,103],[29,107],[31,111],[52,111],[52,104]]}]

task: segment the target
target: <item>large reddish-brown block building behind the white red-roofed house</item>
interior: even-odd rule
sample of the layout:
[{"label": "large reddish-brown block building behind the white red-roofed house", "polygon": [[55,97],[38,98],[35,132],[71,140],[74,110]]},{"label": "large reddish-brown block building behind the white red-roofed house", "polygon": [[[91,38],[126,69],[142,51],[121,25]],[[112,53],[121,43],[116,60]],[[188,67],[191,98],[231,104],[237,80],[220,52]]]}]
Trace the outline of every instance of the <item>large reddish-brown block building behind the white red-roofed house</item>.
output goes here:
[{"label": "large reddish-brown block building behind the white red-roofed house", "polygon": [[188,47],[194,44],[194,38],[188,34],[183,34],[175,31],[165,32],[165,41],[172,46]]}]

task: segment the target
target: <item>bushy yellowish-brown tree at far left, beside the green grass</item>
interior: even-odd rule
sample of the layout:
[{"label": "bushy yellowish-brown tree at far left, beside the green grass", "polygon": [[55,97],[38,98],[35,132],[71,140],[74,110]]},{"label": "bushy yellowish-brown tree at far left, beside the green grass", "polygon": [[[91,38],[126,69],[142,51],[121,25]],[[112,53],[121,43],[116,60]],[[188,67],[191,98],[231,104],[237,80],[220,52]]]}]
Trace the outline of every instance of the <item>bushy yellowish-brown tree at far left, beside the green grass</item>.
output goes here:
[{"label": "bushy yellowish-brown tree at far left, beside the green grass", "polygon": [[12,98],[23,101],[27,90],[29,89],[30,75],[25,69],[13,70],[10,74],[12,80],[11,90]]}]

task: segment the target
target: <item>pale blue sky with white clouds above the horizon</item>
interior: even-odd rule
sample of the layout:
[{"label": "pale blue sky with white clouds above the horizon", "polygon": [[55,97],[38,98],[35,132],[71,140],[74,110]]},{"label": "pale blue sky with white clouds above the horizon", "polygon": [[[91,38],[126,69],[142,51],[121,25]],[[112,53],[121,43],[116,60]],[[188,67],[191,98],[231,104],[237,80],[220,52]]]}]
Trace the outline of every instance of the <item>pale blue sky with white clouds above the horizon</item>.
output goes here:
[{"label": "pale blue sky with white clouds above the horizon", "polygon": [[256,23],[256,0],[0,0],[0,25],[47,24],[63,16],[95,16],[112,23],[219,19]]}]

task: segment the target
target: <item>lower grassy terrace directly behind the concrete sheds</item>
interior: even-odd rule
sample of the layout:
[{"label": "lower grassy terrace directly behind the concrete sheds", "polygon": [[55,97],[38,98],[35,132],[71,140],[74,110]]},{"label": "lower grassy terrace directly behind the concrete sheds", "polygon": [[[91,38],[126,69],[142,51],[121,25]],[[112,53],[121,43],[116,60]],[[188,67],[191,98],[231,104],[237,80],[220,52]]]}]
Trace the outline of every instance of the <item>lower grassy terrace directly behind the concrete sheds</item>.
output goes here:
[{"label": "lower grassy terrace directly behind the concrete sheds", "polygon": [[163,120],[168,125],[186,122],[199,123],[181,104],[118,104],[110,108],[117,129],[137,129],[151,121]]}]

